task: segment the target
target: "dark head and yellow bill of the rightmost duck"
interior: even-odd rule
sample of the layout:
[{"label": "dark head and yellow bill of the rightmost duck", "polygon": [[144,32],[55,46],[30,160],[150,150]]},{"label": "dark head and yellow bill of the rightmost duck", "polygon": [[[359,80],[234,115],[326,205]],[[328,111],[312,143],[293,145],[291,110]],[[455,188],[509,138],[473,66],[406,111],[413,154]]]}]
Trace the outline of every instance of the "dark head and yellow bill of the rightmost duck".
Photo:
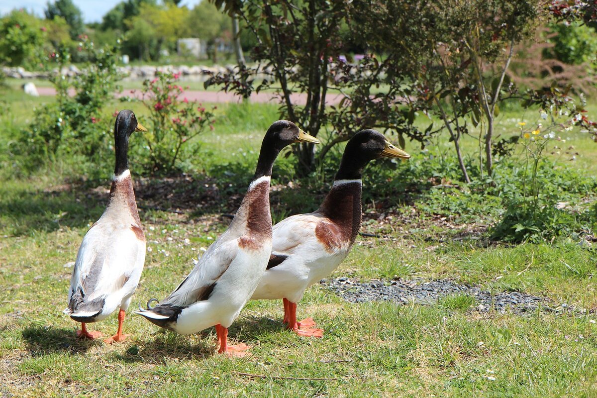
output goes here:
[{"label": "dark head and yellow bill of the rightmost duck", "polygon": [[358,180],[363,168],[374,159],[410,159],[410,155],[396,147],[380,132],[367,129],[353,135],[346,144],[336,180]]}]

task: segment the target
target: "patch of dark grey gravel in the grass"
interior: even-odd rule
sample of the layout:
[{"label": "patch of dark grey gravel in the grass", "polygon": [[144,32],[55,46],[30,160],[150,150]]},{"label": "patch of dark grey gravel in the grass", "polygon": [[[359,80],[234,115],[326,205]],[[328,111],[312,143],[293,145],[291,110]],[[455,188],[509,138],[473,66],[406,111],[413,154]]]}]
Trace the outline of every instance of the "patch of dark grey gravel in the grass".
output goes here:
[{"label": "patch of dark grey gravel in the grass", "polygon": [[[451,279],[427,281],[424,279],[373,279],[369,282],[358,282],[348,277],[324,279],[322,285],[350,303],[366,303],[368,301],[393,301],[398,304],[436,304],[439,298],[447,295],[466,294],[475,298],[472,308],[475,311],[506,311],[524,314],[537,309],[550,312],[567,312],[573,310],[566,303],[554,303],[547,297],[538,297],[521,292],[501,292],[491,294],[479,286],[461,285]],[[579,309],[576,308],[575,311]],[[580,310],[584,312],[584,310]]]}]

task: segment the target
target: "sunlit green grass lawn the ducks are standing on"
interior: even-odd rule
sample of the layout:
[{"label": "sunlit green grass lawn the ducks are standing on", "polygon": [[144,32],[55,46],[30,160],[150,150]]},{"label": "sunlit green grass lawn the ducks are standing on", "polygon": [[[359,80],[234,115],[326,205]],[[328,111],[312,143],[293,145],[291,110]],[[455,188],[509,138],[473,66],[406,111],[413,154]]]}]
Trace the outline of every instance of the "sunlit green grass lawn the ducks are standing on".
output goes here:
[{"label": "sunlit green grass lawn the ducks are standing on", "polygon": [[[4,94],[11,107],[2,116],[3,126],[23,125],[33,106],[50,100],[32,100],[13,91]],[[134,110],[143,120],[143,110]],[[244,184],[276,108],[242,104],[219,106],[218,112],[216,129],[200,138],[203,150],[196,168],[226,183]],[[511,121],[526,116],[515,110],[502,117],[500,128],[509,128]],[[570,134],[579,152],[570,164],[583,165],[587,174],[597,175],[591,162],[597,155],[595,147],[584,144],[586,137]],[[445,149],[449,143],[438,145]],[[423,156],[408,150],[414,160]],[[290,175],[290,161],[281,160],[276,163],[277,182],[287,181]],[[399,165],[397,172],[407,166]],[[233,341],[253,346],[253,355],[244,359],[216,354],[213,328],[180,336],[131,311],[125,321],[130,337],[123,343],[76,340],[75,322],[61,314],[72,272],[68,263],[75,259],[88,227],[103,212],[112,167],[105,168],[105,181],[81,182],[66,163],[28,178],[2,177],[2,395],[597,396],[597,252],[589,243],[572,239],[550,245],[487,245],[475,231],[493,216],[481,221],[473,216],[497,205],[484,205],[484,198],[475,196],[476,203],[445,205],[450,212],[468,206],[458,217],[433,214],[433,203],[424,199],[398,202],[402,198],[393,202],[389,220],[377,213],[373,203],[365,203],[364,231],[381,236],[359,237],[332,277],[450,278],[495,293],[515,290],[540,295],[554,305],[566,303],[586,312],[481,314],[471,310],[475,301],[467,295],[451,295],[427,306],[349,304],[315,285],[299,304],[298,316],[313,316],[325,329],[324,338],[298,338],[285,331],[281,302],[250,302],[229,334]],[[330,181],[331,177],[321,178]],[[221,195],[226,196],[224,182],[219,184]],[[434,195],[433,202],[442,200],[439,193]],[[456,194],[447,190],[442,195]],[[301,187],[273,192],[272,198],[285,202],[273,209],[277,219],[288,215],[289,209],[312,209],[319,200]],[[190,259],[226,229],[227,220],[219,215],[234,210],[226,198],[207,212],[141,209],[148,252],[131,309],[150,297],[170,293],[192,269]],[[90,329],[113,334],[116,315]]]}]

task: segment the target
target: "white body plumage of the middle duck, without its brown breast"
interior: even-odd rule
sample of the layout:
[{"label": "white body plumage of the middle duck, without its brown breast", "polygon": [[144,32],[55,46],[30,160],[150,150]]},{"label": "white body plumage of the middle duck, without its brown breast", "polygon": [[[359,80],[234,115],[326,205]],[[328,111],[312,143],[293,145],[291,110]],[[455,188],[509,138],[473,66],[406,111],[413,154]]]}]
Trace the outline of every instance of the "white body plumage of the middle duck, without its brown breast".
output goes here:
[{"label": "white body plumage of the middle duck, without its brown breast", "polygon": [[[261,189],[269,198],[269,181],[269,176],[253,181],[247,195],[259,184],[264,184]],[[267,204],[264,211],[269,219],[267,222],[271,224],[269,200]],[[218,324],[229,328],[250,300],[267,266],[272,240],[269,235],[253,247],[242,243],[245,239],[251,239],[247,235],[248,205],[244,200],[229,229],[207,249],[176,290],[159,303],[157,307],[181,308],[176,319],[164,327],[180,334],[192,334]],[[213,290],[208,298],[203,298],[202,295],[209,291],[210,286],[213,286]],[[137,313],[156,320],[170,318],[159,311],[140,310]]]}]

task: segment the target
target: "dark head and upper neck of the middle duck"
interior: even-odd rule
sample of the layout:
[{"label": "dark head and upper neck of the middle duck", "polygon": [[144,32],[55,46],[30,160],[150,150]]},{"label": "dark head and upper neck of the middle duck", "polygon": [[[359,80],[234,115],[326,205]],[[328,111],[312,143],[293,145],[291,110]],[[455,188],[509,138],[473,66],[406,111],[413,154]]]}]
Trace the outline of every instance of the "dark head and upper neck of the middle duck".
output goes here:
[{"label": "dark head and upper neck of the middle duck", "polygon": [[254,179],[272,175],[273,162],[284,147],[294,143],[319,144],[320,142],[317,138],[298,128],[293,122],[287,120],[273,122],[263,137]]}]

